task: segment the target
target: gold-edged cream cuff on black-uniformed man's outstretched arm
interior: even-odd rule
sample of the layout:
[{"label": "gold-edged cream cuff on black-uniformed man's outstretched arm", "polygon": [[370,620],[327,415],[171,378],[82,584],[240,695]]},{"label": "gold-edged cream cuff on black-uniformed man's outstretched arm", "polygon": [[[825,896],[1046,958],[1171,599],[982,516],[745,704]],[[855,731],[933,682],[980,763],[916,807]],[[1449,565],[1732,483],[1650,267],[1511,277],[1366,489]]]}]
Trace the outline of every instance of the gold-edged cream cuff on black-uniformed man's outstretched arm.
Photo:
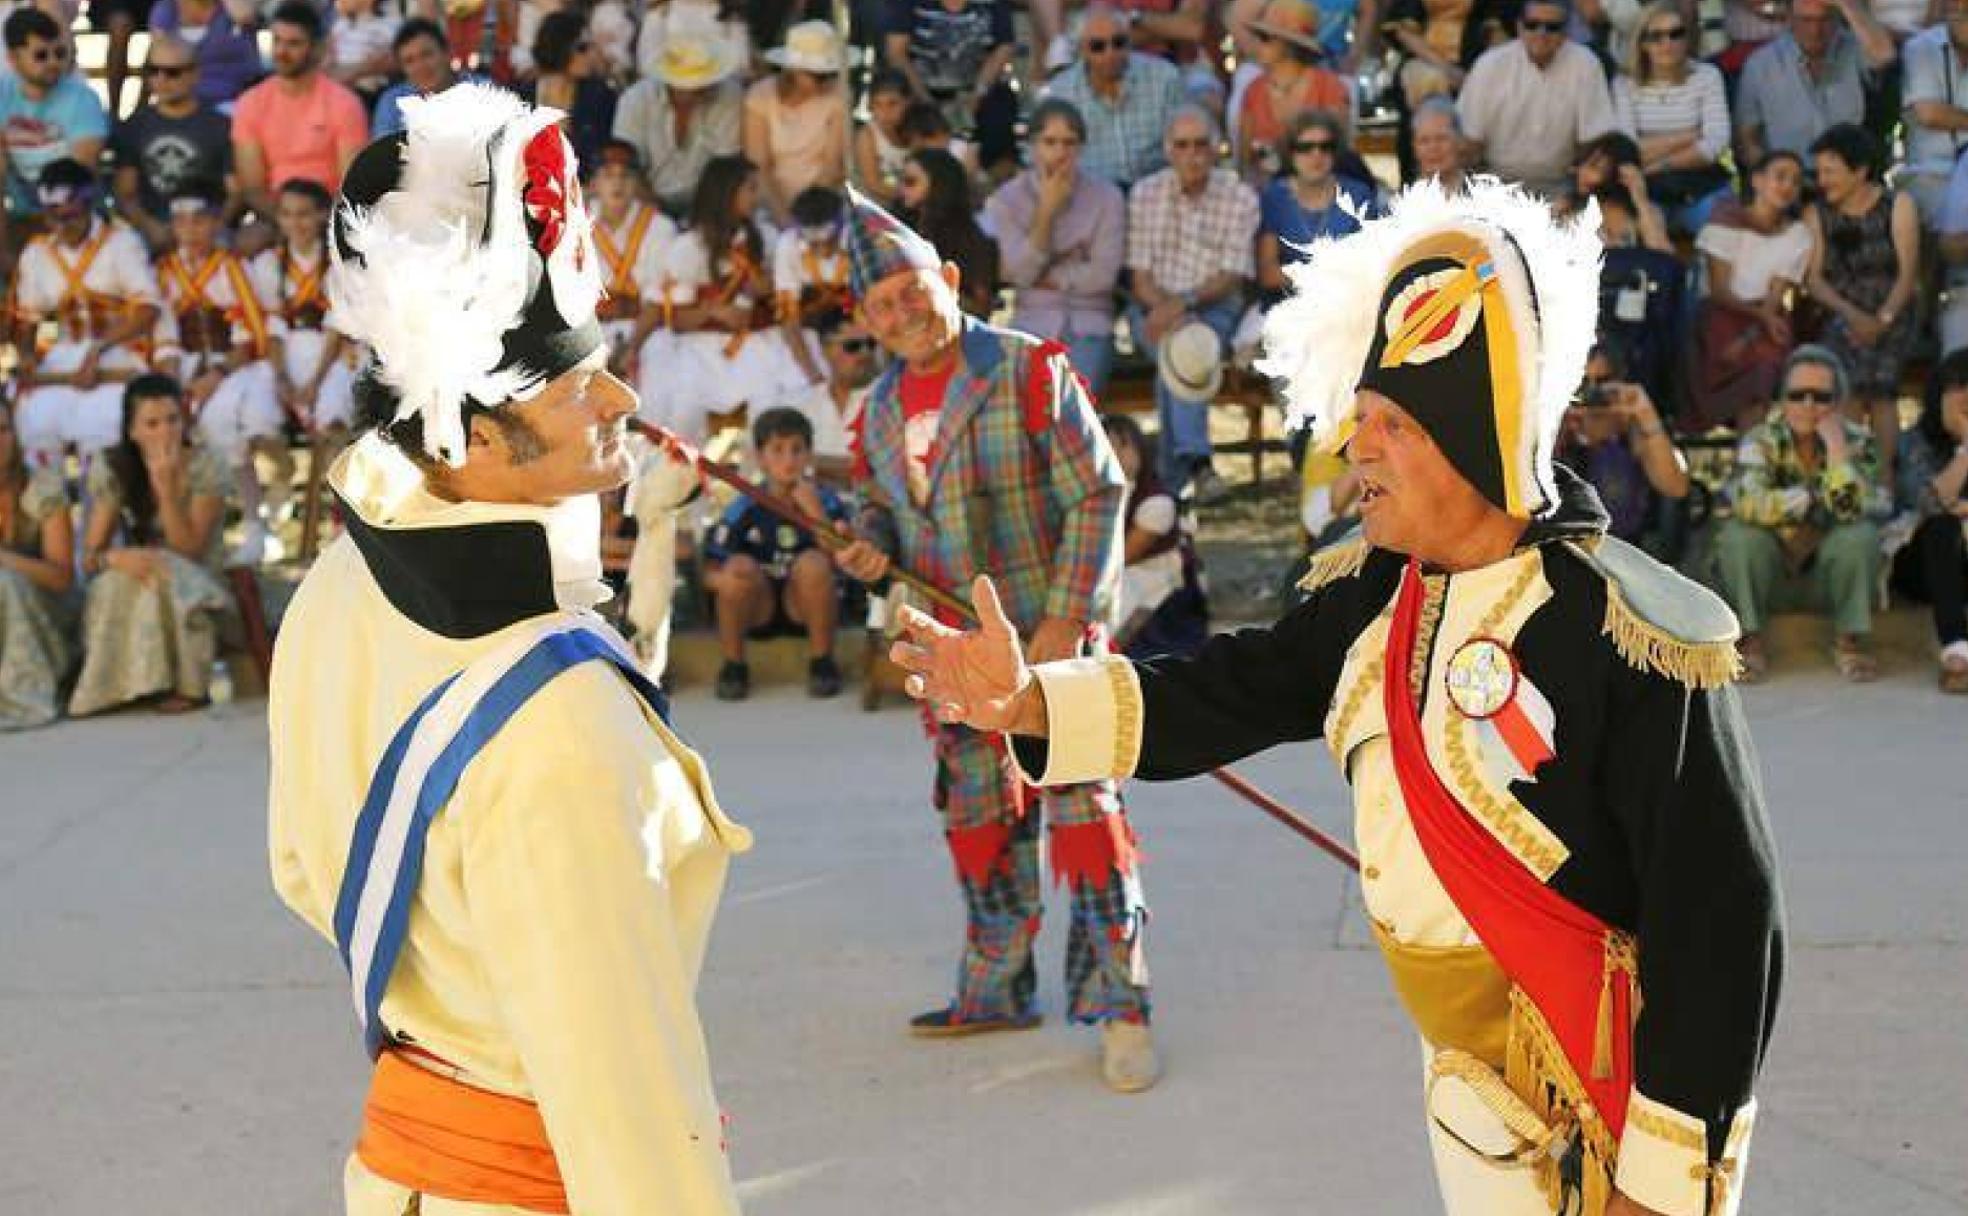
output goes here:
[{"label": "gold-edged cream cuff on black-uniformed man's outstretched arm", "polygon": [[[1078,785],[1134,775],[1141,758],[1141,681],[1120,655],[1039,663],[1031,669],[1045,697],[1045,771],[1025,769],[1039,748],[1012,748],[1027,785]],[[1025,752],[1027,756],[1019,756]]]}]

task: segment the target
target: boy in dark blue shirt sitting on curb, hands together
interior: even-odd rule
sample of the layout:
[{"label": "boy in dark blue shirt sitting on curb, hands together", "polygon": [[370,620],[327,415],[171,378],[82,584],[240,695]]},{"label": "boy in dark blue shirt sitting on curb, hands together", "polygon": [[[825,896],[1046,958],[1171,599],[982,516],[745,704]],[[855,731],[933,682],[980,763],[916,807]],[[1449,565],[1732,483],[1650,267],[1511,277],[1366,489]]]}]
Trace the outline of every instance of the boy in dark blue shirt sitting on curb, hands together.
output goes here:
[{"label": "boy in dark blue shirt sitting on curb, hands together", "polygon": [[[813,423],[797,409],[768,409],[752,423],[752,447],[766,488],[791,500],[817,519],[846,519],[832,490],[813,480]],[[840,693],[834,665],[834,624],[840,620],[840,586],[834,563],[813,533],[787,523],[740,496],[705,541],[705,586],[716,596],[718,699],[744,700],[752,669],[744,661],[746,638],[807,632],[807,695]]]}]

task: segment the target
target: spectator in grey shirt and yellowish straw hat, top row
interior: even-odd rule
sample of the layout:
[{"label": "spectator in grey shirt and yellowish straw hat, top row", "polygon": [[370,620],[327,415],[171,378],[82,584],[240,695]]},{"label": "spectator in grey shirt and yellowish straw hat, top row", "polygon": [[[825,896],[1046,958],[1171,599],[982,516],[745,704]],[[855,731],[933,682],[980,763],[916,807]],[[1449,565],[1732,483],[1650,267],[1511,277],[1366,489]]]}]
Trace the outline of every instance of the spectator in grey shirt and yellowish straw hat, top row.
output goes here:
[{"label": "spectator in grey shirt and yellowish straw hat, top row", "polygon": [[614,138],[636,146],[655,201],[681,216],[714,155],[738,152],[742,94],[730,43],[695,30],[669,37],[655,71],[616,106]]}]

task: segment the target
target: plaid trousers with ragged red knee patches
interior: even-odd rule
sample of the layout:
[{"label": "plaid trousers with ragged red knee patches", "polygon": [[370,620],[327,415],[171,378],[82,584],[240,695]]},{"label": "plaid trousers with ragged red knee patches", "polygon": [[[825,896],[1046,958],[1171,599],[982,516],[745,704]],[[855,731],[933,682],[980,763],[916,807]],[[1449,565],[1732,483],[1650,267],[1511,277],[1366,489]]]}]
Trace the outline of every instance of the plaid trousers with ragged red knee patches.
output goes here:
[{"label": "plaid trousers with ragged red knee patches", "polygon": [[1017,781],[1004,742],[964,726],[937,726],[935,750],[935,803],[968,915],[956,1013],[994,1019],[1031,1009],[1033,939],[1045,911],[1039,832],[1049,819],[1053,872],[1073,891],[1067,1015],[1078,1023],[1145,1021],[1147,905],[1120,785],[1100,781],[1033,795]]}]

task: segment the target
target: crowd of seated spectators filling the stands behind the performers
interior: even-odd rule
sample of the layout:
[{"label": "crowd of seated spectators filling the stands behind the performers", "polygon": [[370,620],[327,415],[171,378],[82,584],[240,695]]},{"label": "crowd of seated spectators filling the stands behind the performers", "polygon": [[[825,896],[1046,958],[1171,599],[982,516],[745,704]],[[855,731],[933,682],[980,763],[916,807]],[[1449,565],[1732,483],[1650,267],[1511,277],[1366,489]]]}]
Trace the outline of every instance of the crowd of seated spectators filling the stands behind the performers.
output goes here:
[{"label": "crowd of seated spectators filling the stands behind the performers", "polygon": [[[1187,514],[1226,494],[1210,403],[1309,242],[1419,177],[1521,183],[1596,214],[1608,244],[1602,348],[1563,458],[1600,484],[1616,533],[1712,578],[1752,634],[1752,675],[1777,584],[1809,575],[1840,671],[1868,679],[1860,592],[1891,575],[1935,604],[1942,683],[1968,691],[1968,0],[842,12],[844,28],[819,0],[94,4],[108,41],[91,79],[73,12],[12,6],[0,671],[59,675],[92,649],[138,675],[85,679],[75,712],[203,699],[187,655],[205,651],[116,649],[96,604],[124,600],[94,586],[116,573],[183,590],[152,614],[159,628],[218,612],[191,594],[213,586],[161,575],[218,569],[215,496],[240,521],[226,561],[277,555],[291,449],[319,466],[344,441],[360,360],[321,291],[333,191],[370,138],[401,128],[407,98],[472,79],[565,110],[614,368],[646,415],[693,441],[777,419],[773,480],[801,494],[791,449],[846,488],[880,366],[846,291],[848,185],[958,268],[968,311],[1065,342],[1114,405],[1151,401],[1153,435],[1124,439],[1136,466],[1153,462],[1151,498]],[[1909,372],[1937,364],[1903,433]],[[154,458],[169,445],[134,429],[167,429],[165,399],[185,451]],[[1706,486],[1689,476],[1696,447],[1720,456]],[[1344,470],[1307,464],[1305,484],[1309,529],[1330,535]],[[813,616],[811,588],[754,598],[720,565],[744,584],[716,612],[726,626],[787,604]],[[87,622],[55,645],[63,596]],[[45,663],[18,663],[37,638]],[[171,655],[169,679],[130,647]],[[836,683],[821,669],[815,687]],[[0,724],[45,718],[51,697],[0,687]]]}]

